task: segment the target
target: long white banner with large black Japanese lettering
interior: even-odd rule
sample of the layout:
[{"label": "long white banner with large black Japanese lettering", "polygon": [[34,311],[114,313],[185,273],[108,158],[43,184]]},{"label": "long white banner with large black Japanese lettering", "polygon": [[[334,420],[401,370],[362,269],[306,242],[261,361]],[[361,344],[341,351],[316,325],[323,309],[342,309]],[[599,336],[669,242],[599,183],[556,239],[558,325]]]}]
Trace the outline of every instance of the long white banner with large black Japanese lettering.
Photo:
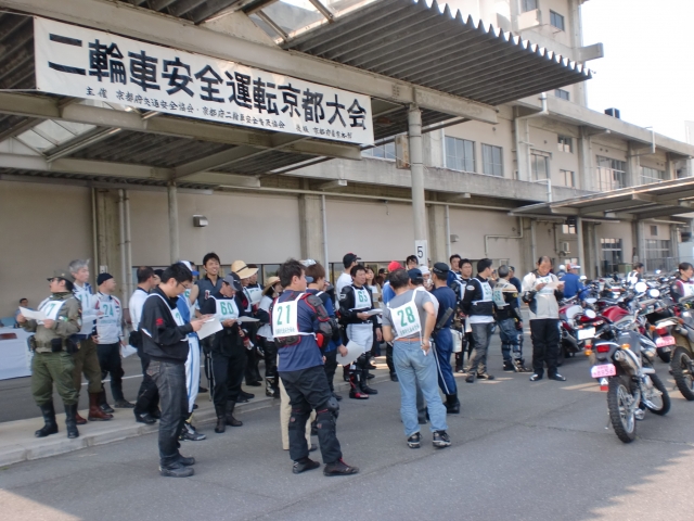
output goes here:
[{"label": "long white banner with large black Japanese lettering", "polygon": [[34,46],[43,92],[373,144],[368,96],[40,17]]}]

